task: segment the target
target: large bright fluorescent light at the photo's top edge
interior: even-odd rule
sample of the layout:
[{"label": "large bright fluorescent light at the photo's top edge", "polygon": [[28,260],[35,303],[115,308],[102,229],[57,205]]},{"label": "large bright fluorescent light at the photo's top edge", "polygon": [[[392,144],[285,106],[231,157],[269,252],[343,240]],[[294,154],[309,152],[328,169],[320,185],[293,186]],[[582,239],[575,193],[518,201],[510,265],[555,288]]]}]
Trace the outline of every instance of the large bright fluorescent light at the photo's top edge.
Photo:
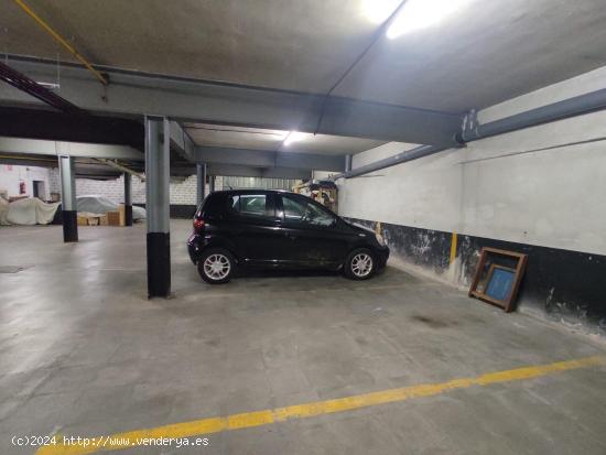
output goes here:
[{"label": "large bright fluorescent light at the photo's top edge", "polygon": [[437,25],[445,18],[466,7],[470,0],[408,0],[387,30],[393,40],[404,33]]}]

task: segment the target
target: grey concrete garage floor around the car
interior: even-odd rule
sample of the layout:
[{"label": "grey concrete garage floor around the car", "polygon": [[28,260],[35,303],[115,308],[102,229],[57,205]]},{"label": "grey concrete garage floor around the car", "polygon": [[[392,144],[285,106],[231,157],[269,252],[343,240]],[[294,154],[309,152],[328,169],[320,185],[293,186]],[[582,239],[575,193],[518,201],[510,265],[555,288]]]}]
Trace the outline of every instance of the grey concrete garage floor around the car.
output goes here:
[{"label": "grey concrete garage floor around the car", "polygon": [[[0,453],[604,355],[600,340],[388,268],[209,286],[172,223],[173,292],[145,299],[144,226],[0,228]],[[128,454],[604,454],[606,367],[446,391]]]}]

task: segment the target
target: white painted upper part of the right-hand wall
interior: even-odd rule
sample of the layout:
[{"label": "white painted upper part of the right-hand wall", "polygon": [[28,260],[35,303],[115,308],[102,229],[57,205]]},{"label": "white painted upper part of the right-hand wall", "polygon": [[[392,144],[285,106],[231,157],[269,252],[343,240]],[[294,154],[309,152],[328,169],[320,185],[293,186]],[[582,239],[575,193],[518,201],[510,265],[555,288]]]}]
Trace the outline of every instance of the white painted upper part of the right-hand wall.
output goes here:
[{"label": "white painted upper part of the right-hand wall", "polygon": [[[479,118],[496,120],[598,88],[606,88],[606,68],[491,107]],[[594,112],[340,180],[339,213],[606,254],[606,141],[537,150],[604,137],[606,111]],[[374,154],[356,155],[354,167]]]}]

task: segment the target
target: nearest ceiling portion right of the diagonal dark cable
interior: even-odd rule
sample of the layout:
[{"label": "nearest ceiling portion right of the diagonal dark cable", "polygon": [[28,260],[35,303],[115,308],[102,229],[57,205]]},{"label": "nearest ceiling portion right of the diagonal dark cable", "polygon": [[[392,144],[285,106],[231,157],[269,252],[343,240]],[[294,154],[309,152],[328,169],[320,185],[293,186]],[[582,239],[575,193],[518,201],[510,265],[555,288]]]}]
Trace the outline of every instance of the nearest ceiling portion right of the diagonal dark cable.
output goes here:
[{"label": "nearest ceiling portion right of the diagonal dark cable", "polygon": [[335,91],[465,111],[606,65],[604,0],[467,0],[439,29],[381,40]]}]

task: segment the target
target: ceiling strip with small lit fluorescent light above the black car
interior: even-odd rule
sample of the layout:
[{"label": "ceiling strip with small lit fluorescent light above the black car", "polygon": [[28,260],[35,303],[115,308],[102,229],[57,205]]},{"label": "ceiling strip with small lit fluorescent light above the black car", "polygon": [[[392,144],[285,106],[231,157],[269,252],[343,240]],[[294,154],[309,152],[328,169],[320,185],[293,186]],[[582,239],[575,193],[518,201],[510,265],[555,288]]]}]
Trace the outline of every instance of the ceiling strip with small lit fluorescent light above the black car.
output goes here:
[{"label": "ceiling strip with small lit fluorescent light above the black car", "polygon": [[184,123],[196,145],[268,150],[289,153],[346,155],[383,144],[383,141],[327,134],[295,133],[296,141],[285,145],[290,131],[225,127],[208,123]]}]

